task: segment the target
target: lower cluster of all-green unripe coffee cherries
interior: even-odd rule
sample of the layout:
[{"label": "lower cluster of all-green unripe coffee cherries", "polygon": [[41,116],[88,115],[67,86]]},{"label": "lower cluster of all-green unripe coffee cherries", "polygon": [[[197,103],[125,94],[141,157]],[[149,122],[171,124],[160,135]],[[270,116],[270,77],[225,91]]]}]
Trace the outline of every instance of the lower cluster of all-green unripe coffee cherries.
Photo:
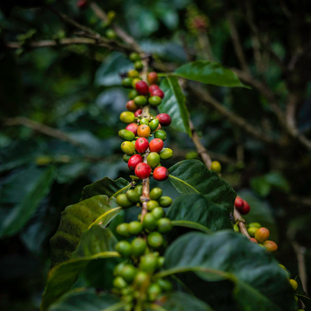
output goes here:
[{"label": "lower cluster of all-green unripe coffee cherries", "polygon": [[[141,191],[141,185],[138,185],[120,194],[117,203],[125,208],[138,203]],[[171,206],[172,199],[162,194],[158,187],[150,191],[148,212],[142,222],[141,215],[138,215],[138,221],[121,223],[116,227],[117,234],[126,240],[116,244],[116,251],[124,260],[114,269],[113,291],[127,303],[124,310],[133,310],[134,306],[135,310],[145,310],[149,303],[173,288],[169,280],[155,277],[155,272],[164,264],[161,254],[167,242],[163,234],[172,230],[172,223],[165,217],[163,209]],[[124,205],[125,196],[131,203]]]}]

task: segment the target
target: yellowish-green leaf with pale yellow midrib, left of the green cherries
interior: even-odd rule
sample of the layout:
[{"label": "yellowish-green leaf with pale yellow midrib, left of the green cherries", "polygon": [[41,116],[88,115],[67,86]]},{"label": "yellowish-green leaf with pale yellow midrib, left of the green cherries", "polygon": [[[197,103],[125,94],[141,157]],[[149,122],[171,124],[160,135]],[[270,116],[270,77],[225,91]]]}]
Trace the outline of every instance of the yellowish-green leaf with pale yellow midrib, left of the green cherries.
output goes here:
[{"label": "yellowish-green leaf with pale yellow midrib, left of the green cherries", "polygon": [[108,204],[106,195],[96,195],[66,207],[51,239],[51,266],[70,258],[80,242],[83,230],[95,224],[108,225],[120,211],[121,207]]}]

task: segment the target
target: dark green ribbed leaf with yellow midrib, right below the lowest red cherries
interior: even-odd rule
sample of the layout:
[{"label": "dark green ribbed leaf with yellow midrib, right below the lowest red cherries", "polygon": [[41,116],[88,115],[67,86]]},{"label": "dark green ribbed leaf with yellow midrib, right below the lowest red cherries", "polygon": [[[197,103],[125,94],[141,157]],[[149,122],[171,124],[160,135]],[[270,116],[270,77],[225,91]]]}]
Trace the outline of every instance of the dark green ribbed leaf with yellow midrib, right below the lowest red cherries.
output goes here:
[{"label": "dark green ribbed leaf with yellow midrib, right below the lowest red cherries", "polygon": [[169,169],[169,180],[179,193],[200,193],[208,201],[232,211],[235,191],[199,160],[183,160]]}]

